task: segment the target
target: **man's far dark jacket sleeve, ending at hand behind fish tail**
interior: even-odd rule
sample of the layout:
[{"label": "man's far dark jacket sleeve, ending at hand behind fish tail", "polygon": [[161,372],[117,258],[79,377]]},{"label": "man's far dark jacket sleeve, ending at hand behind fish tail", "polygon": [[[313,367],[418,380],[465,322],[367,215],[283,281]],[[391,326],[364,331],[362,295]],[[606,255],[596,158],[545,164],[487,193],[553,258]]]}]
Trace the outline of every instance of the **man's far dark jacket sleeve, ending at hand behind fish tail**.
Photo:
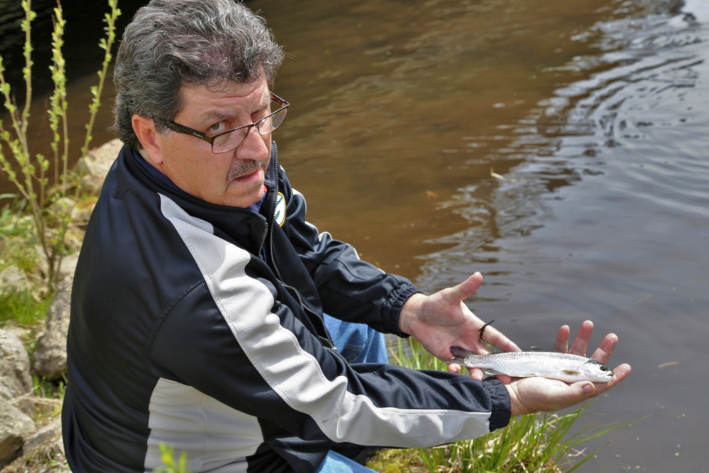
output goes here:
[{"label": "man's far dark jacket sleeve, ending at hand behind fish tail", "polygon": [[291,188],[282,167],[279,187],[287,204],[283,230],[316,284],[323,311],[344,321],[367,323],[383,333],[408,336],[399,330],[399,313],[420,290],[405,277],[360,260],[352,245],[319,233],[306,221],[305,197]]}]

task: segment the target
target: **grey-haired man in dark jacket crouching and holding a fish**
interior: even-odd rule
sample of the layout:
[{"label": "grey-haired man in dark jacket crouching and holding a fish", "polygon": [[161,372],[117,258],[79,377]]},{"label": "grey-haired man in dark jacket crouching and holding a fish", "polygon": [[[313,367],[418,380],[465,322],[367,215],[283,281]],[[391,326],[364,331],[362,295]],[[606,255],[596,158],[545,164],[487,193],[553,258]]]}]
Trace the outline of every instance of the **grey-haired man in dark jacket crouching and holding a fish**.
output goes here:
[{"label": "grey-haired man in dark jacket crouching and holding a fish", "polygon": [[[479,274],[425,296],[307,223],[271,140],[288,108],[269,89],[282,58],[233,0],[153,0],[126,28],[114,79],[125,146],[72,292],[62,425],[74,472],[152,471],[161,445],[186,452],[192,472],[369,471],[335,450],[474,438],[627,375],[481,382],[457,365],[419,372],[338,352],[324,313],[411,335],[442,359],[450,345],[518,347],[491,327],[481,340],[462,303]],[[568,340],[564,326],[557,350]]]}]

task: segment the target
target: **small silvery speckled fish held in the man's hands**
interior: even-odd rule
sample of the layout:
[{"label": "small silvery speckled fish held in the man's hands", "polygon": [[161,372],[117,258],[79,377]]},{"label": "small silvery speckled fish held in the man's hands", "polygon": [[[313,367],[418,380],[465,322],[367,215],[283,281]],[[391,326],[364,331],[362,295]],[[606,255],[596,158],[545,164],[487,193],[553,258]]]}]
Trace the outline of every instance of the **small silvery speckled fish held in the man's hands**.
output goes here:
[{"label": "small silvery speckled fish held in the man's hands", "polygon": [[561,352],[503,352],[476,355],[465,348],[452,346],[453,357],[447,363],[481,368],[488,374],[506,374],[513,378],[540,376],[566,383],[609,382],[615,376],[609,367],[591,358]]}]

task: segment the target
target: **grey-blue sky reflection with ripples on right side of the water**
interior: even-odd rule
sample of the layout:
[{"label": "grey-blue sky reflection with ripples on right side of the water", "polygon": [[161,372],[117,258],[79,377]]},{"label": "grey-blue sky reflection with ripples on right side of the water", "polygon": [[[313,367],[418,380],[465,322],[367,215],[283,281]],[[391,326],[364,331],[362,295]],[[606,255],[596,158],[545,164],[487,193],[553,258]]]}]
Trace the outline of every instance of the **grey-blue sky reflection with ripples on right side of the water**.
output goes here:
[{"label": "grey-blue sky reflection with ripples on right side of the water", "polygon": [[634,372],[593,409],[652,418],[613,434],[584,472],[709,469],[696,392],[709,335],[708,22],[708,5],[688,2],[582,32],[593,48],[544,73],[585,77],[520,121],[506,152],[523,162],[489,194],[459,193],[470,228],[423,257],[423,286],[483,272],[476,310],[522,346],[550,344],[550,327],[584,318],[620,335],[612,360]]}]

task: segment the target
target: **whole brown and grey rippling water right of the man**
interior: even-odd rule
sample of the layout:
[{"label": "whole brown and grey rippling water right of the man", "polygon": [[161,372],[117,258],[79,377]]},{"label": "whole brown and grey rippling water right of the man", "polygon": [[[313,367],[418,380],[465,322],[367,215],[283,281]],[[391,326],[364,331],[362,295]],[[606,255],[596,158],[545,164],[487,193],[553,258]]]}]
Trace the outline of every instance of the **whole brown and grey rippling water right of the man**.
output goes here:
[{"label": "whole brown and grey rippling water right of the man", "polygon": [[426,291],[482,272],[469,305],[522,347],[618,333],[633,372],[590,411],[651,417],[577,471],[709,471],[707,2],[248,5],[311,221]]}]

